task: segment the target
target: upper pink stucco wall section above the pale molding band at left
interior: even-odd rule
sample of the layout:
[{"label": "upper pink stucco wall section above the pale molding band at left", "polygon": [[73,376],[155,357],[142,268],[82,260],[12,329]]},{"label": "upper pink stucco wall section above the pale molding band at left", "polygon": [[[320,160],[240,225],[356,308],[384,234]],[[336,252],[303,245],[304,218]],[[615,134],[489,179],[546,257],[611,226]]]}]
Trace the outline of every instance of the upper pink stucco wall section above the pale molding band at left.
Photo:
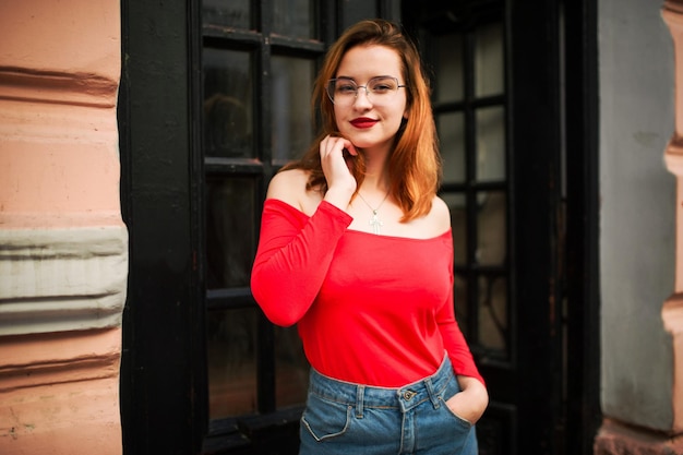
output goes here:
[{"label": "upper pink stucco wall section above the pale molding band at left", "polygon": [[89,0],[2,7],[3,227],[89,223],[91,215],[120,212],[119,10],[118,1]]}]

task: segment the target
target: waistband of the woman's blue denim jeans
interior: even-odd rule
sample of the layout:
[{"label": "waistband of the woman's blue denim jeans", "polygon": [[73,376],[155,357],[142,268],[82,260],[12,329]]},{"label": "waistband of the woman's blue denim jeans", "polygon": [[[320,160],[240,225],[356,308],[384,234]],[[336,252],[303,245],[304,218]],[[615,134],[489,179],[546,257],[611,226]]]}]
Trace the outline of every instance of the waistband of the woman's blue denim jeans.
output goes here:
[{"label": "waistband of the woman's blue denim jeans", "polygon": [[311,369],[309,393],[332,402],[355,406],[356,414],[362,415],[363,408],[400,408],[407,411],[431,400],[434,407],[440,406],[440,395],[448,382],[454,379],[453,367],[447,356],[439,370],[402,387],[375,387],[356,384],[328,378]]}]

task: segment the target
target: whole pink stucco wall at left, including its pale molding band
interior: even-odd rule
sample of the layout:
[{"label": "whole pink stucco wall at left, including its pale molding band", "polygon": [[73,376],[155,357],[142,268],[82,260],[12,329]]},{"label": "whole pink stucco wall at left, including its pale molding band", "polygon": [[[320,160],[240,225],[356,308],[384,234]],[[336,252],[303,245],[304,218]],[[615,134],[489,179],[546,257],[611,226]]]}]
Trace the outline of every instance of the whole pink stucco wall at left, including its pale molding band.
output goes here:
[{"label": "whole pink stucco wall at left, including its pale molding band", "polygon": [[122,453],[120,31],[116,0],[0,4],[3,455]]}]

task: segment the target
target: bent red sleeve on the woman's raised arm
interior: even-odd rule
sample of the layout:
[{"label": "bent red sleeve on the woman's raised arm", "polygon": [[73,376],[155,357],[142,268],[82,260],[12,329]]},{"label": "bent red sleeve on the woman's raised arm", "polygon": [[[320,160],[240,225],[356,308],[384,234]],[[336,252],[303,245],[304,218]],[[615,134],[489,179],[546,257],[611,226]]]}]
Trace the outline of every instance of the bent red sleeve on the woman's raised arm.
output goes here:
[{"label": "bent red sleeve on the woman's raised arm", "polygon": [[289,326],[305,314],[351,220],[325,201],[310,218],[285,202],[265,202],[251,290],[274,324]]}]

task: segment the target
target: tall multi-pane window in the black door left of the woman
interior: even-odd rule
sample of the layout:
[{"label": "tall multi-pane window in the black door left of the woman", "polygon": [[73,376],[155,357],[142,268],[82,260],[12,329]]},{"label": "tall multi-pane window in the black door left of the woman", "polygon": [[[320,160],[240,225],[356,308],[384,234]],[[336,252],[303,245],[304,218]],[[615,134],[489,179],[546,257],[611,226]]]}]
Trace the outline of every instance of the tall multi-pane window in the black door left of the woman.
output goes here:
[{"label": "tall multi-pane window in the black door left of the woman", "polygon": [[317,15],[312,0],[202,5],[202,262],[214,432],[305,400],[309,367],[296,328],[268,323],[249,282],[267,182],[313,136],[310,93],[324,51]]}]

